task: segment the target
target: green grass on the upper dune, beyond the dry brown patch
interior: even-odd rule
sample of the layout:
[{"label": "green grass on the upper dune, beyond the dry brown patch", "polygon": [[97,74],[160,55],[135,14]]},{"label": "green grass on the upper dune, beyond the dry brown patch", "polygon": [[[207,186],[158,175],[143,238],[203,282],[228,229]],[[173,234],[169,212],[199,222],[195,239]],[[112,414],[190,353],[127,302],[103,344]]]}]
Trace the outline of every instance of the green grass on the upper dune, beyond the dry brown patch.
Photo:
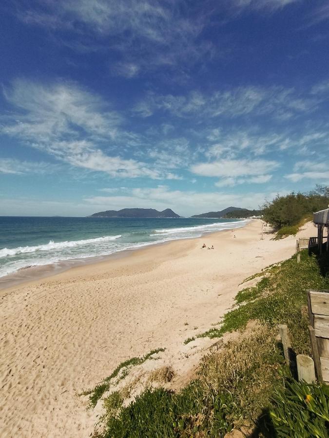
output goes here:
[{"label": "green grass on the upper dune, beyond the dry brown patch", "polygon": [[[219,328],[211,328],[196,335],[216,338],[226,332],[244,329],[248,321],[256,319],[270,327],[288,324],[291,335],[303,345],[303,353],[310,351],[307,333],[307,297],[306,290],[311,288],[327,289],[328,276],[319,271],[315,255],[308,251],[301,253],[301,262],[297,264],[296,255],[267,271],[268,276],[251,288],[246,288],[236,295],[240,306],[224,315]],[[302,336],[302,337],[301,337]]]}]

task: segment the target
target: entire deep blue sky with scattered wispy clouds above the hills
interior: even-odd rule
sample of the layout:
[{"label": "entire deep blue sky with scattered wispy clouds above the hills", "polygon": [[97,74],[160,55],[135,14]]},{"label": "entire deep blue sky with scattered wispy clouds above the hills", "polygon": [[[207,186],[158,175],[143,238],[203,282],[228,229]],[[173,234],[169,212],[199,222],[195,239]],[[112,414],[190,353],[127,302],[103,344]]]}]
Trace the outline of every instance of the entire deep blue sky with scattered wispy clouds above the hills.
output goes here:
[{"label": "entire deep blue sky with scattered wispy clouds above the hills", "polygon": [[11,0],[0,60],[0,215],[329,184],[328,0]]}]

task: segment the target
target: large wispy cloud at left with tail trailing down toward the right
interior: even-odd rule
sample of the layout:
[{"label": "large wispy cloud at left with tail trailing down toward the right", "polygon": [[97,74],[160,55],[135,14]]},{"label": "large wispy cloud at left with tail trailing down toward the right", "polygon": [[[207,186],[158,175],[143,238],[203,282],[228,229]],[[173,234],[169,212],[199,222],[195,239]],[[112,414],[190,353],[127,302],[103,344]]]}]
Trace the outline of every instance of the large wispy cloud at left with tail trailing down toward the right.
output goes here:
[{"label": "large wispy cloud at left with tail trailing down toward the right", "polygon": [[[136,134],[119,127],[122,117],[99,96],[75,84],[41,85],[18,80],[4,95],[16,112],[2,117],[2,134],[18,138],[64,163],[111,177],[178,178],[167,168],[150,167],[118,155],[117,145],[135,144]],[[111,142],[115,142],[115,154],[108,155],[104,145]]]}]

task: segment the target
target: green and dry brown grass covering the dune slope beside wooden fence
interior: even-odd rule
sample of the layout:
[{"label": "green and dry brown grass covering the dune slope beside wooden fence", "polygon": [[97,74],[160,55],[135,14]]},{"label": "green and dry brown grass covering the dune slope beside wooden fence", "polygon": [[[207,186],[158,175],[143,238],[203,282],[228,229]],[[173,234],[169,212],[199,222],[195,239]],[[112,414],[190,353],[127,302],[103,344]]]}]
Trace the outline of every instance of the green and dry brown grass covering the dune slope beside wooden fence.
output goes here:
[{"label": "green and dry brown grass covering the dune slope beside wooden fence", "polygon": [[[239,307],[224,316],[222,326],[199,336],[219,337],[240,330],[240,337],[205,356],[196,378],[179,392],[148,387],[135,401],[128,406],[121,403],[119,408],[116,401],[121,399],[113,396],[98,437],[128,437],[129,431],[136,437],[224,437],[242,426],[256,430],[254,436],[281,436],[275,427],[286,421],[281,408],[285,400],[294,403],[291,409],[296,415],[305,409],[305,403],[291,398],[289,382],[293,382],[294,370],[284,363],[277,325],[288,325],[296,354],[310,353],[306,290],[328,289],[328,273],[328,254],[317,257],[303,251],[301,263],[292,256],[271,270],[258,286],[239,292]],[[247,327],[251,320],[256,321]],[[308,391],[302,384],[296,385],[295,392]],[[328,391],[320,386],[317,391],[328,403]],[[273,416],[276,423],[271,420]],[[303,419],[297,420],[302,430]],[[289,425],[285,427],[285,436],[290,436]]]}]

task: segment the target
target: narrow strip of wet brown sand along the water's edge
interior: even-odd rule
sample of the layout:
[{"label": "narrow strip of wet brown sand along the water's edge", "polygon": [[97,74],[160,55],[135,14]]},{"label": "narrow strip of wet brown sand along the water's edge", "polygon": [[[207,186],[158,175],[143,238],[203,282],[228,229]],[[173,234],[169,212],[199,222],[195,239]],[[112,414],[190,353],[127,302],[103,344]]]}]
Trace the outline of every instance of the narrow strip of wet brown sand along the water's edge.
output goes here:
[{"label": "narrow strip of wet brown sand along the water's edge", "polygon": [[[211,218],[210,218],[211,219]],[[236,220],[245,220],[245,225],[233,227],[233,229],[240,229],[248,226],[249,223],[253,220],[259,220],[259,219],[236,219]],[[232,222],[235,223],[235,222]],[[4,275],[3,277],[0,277],[0,295],[2,292],[5,292],[7,289],[12,289],[16,286],[24,286],[25,284],[34,283],[39,280],[43,280],[49,277],[52,277],[57,274],[64,273],[66,271],[70,271],[71,269],[75,269],[78,267],[83,266],[89,266],[94,265],[98,263],[108,262],[111,260],[116,260],[122,257],[129,257],[133,252],[135,251],[143,251],[146,248],[150,247],[157,247],[161,245],[170,244],[172,242],[176,241],[182,241],[182,240],[194,240],[194,239],[202,239],[203,237],[206,237],[208,235],[213,235],[216,233],[222,233],[225,231],[230,231],[229,229],[223,229],[223,230],[216,230],[216,231],[207,231],[204,232],[202,236],[193,236],[193,237],[181,237],[176,238],[164,242],[147,242],[145,245],[142,245],[140,247],[135,248],[127,248],[123,250],[118,250],[112,254],[103,255],[103,256],[91,256],[91,257],[85,257],[85,258],[72,258],[68,260],[59,260],[54,263],[47,263],[44,265],[35,265],[30,266],[26,268],[20,268],[18,271]]]}]

